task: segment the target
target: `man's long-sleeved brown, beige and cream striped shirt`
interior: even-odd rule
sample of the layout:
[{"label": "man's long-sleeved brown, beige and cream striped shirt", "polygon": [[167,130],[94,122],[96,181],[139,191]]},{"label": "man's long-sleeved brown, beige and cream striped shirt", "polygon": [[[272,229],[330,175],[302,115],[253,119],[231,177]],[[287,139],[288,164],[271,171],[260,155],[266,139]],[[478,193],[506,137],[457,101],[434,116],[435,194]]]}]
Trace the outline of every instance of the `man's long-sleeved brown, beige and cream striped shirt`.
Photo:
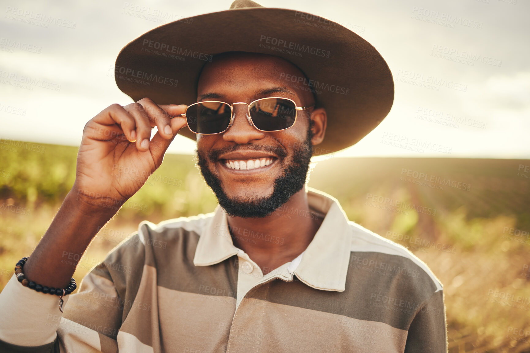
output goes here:
[{"label": "man's long-sleeved brown, beige and cream striped shirt", "polygon": [[[10,279],[0,293],[0,351],[446,352],[443,291],[402,246],[348,221],[339,203],[308,190],[325,214],[306,250],[263,275],[214,213],[142,222],[87,274],[77,293],[43,294]],[[297,210],[288,210],[296,214]]]}]

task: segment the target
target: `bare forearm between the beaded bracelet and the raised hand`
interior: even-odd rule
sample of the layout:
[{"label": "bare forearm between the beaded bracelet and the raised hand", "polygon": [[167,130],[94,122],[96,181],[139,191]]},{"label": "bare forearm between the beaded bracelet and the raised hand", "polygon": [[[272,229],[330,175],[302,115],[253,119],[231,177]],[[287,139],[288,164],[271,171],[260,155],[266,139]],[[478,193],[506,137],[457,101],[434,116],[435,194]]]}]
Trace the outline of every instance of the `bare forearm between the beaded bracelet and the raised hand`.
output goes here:
[{"label": "bare forearm between the beaded bracelet and the raised hand", "polygon": [[118,208],[89,205],[78,200],[72,189],[24,265],[24,277],[42,286],[66,287],[74,274],[75,264]]}]

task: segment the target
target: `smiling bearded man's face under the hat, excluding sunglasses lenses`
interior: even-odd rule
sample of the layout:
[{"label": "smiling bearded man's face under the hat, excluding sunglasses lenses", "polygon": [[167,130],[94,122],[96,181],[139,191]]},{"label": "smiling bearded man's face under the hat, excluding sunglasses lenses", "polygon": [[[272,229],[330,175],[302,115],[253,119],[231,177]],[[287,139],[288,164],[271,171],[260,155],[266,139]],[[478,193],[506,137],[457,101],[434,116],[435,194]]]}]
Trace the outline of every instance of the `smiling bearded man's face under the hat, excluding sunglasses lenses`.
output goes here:
[{"label": "smiling bearded man's face under the hat, excluding sunglasses lenses", "polygon": [[[294,65],[274,56],[251,53],[217,56],[202,70],[198,102],[233,104],[285,97],[297,106],[313,105],[311,92],[291,87],[290,80],[283,79],[287,75],[304,76]],[[266,216],[304,186],[314,142],[309,113],[312,109],[298,112],[293,126],[277,132],[263,132],[251,126],[246,118],[248,105],[236,104],[233,110],[235,120],[227,131],[197,136],[199,167],[228,214]],[[316,140],[318,143],[321,139]],[[260,167],[232,166],[241,165],[242,161],[247,166]]]}]

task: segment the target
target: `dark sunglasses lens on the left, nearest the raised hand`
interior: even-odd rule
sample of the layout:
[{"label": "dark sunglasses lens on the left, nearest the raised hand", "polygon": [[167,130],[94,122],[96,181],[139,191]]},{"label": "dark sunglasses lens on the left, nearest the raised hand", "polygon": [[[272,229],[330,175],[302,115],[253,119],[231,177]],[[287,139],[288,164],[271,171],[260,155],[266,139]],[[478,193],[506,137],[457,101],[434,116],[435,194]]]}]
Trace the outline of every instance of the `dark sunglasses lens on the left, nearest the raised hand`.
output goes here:
[{"label": "dark sunglasses lens on the left, nearest the raised hand", "polygon": [[186,119],[191,131],[196,133],[219,133],[228,128],[231,110],[226,103],[202,102],[190,105]]}]

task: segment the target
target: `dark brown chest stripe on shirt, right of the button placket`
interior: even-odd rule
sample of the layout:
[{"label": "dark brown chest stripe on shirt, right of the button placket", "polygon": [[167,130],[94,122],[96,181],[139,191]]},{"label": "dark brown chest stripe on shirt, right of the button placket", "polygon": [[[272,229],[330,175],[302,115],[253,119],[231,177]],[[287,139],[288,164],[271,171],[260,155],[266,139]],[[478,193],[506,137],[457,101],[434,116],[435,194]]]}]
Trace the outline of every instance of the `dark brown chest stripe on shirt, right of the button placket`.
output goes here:
[{"label": "dark brown chest stripe on shirt, right of the button placket", "polygon": [[[366,264],[366,265],[363,265]],[[378,321],[407,330],[436,291],[429,275],[408,258],[381,252],[352,252],[344,292],[321,291],[300,282],[275,280],[248,297],[349,318]],[[439,306],[440,309],[442,306]],[[443,315],[440,310],[437,315]]]}]

